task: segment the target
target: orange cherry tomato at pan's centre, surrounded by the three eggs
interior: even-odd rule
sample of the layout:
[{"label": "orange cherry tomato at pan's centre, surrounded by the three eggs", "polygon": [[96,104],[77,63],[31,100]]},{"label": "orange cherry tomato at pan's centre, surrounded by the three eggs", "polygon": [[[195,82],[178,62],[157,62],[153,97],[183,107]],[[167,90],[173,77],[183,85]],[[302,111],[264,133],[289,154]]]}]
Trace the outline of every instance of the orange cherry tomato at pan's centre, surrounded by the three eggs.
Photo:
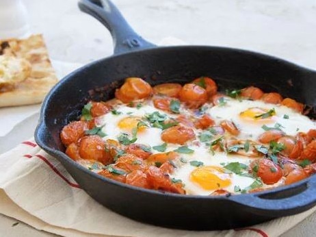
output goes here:
[{"label": "orange cherry tomato at pan's centre, surrounded by the three eggs", "polygon": [[195,138],[193,129],[183,126],[169,127],[161,133],[161,140],[168,143],[183,144]]}]

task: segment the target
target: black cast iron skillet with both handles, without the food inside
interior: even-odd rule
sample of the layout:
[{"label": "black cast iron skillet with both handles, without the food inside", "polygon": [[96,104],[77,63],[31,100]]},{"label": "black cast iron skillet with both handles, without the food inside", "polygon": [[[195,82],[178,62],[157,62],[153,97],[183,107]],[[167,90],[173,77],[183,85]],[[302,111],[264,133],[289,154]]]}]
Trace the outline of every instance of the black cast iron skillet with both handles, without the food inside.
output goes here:
[{"label": "black cast iron skillet with both handles, without the food inside", "polygon": [[151,85],[189,82],[201,75],[218,86],[258,86],[308,105],[316,101],[316,72],[261,53],[225,47],[156,47],[133,32],[110,1],[81,0],[79,8],[109,29],[114,55],[67,75],[47,95],[36,128],[36,142],[59,160],[91,197],[131,219],[179,229],[230,229],[303,212],[316,203],[316,176],[245,195],[200,197],[145,190],[101,177],[64,154],[60,131],[78,118],[90,99],[114,97],[126,77]]}]

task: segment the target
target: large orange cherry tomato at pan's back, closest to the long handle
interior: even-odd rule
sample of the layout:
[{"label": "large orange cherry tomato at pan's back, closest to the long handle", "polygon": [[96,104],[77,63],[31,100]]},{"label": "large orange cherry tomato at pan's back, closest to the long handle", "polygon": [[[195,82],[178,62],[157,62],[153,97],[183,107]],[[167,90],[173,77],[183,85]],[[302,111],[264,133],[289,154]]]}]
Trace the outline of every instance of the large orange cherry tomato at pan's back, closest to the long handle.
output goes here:
[{"label": "large orange cherry tomato at pan's back, closest to the long handle", "polygon": [[116,90],[115,97],[123,103],[129,103],[136,99],[144,99],[153,93],[151,86],[139,77],[129,77],[124,84]]}]

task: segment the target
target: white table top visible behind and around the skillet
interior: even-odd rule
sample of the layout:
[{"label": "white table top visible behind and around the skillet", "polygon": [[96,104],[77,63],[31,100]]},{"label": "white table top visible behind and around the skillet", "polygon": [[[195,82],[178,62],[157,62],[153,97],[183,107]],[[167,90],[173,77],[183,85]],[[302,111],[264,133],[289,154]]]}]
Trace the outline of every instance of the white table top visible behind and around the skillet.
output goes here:
[{"label": "white table top visible behind and around the skillet", "polygon": [[[135,31],[155,44],[172,36],[188,45],[259,51],[316,70],[315,0],[113,2]],[[94,18],[81,13],[77,0],[28,0],[25,5],[31,32],[44,34],[53,60],[85,64],[112,54],[109,32]],[[36,116],[28,123],[35,128]],[[1,126],[4,125],[0,118],[0,129]],[[25,138],[32,132],[33,129],[26,129]],[[313,236],[315,219],[314,214],[283,236]],[[16,222],[0,215],[1,236],[54,236],[23,223],[12,227]]]}]

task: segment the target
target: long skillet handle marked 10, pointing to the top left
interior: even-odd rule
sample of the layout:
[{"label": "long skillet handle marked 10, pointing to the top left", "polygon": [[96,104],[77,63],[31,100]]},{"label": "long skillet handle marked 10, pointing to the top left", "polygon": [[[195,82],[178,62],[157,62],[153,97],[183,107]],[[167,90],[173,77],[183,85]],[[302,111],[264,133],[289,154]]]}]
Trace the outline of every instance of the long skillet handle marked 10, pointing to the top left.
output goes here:
[{"label": "long skillet handle marked 10, pointing to the top left", "polygon": [[118,8],[109,0],[79,0],[82,12],[94,16],[111,33],[114,42],[114,54],[152,48],[156,45],[144,40],[131,28]]}]

